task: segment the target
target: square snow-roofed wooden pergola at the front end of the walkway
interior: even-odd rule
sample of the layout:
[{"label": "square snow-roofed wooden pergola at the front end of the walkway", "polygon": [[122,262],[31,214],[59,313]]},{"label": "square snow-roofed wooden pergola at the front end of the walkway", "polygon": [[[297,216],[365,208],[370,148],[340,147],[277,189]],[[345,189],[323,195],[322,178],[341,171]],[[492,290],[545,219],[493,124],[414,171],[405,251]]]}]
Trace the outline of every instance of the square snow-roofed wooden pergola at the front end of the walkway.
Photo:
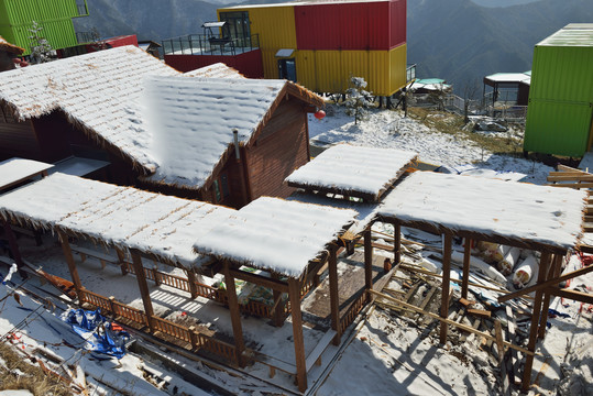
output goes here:
[{"label": "square snow-roofed wooden pergola at the front end of the walkway", "polygon": [[[240,278],[274,290],[275,306],[282,294],[290,302],[296,378],[300,392],[307,389],[307,372],[327,346],[340,343],[341,326],[338,296],[337,250],[339,237],[353,222],[356,212],[318,205],[259,198],[221,222],[195,244],[196,252],[222,261],[226,284]],[[279,254],[278,254],[279,253]],[[328,263],[331,330],[306,356],[300,311],[304,283]],[[241,266],[259,268],[267,276],[241,271]],[[239,304],[233,287],[228,287],[237,354],[243,356],[245,345]]]}]

